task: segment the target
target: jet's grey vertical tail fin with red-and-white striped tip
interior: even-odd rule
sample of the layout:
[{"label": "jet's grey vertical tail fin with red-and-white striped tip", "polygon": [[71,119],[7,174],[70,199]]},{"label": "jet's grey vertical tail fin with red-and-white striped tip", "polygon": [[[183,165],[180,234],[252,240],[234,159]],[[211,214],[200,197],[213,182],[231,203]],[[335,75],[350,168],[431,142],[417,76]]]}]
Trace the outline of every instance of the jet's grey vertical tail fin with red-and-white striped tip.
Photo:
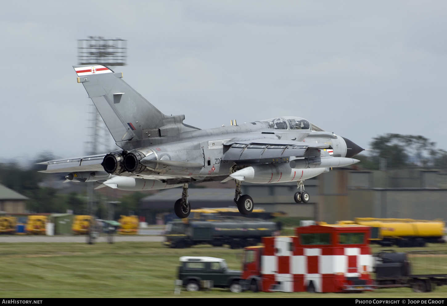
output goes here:
[{"label": "jet's grey vertical tail fin with red-and-white striped tip", "polygon": [[[102,65],[73,66],[78,83],[84,85],[115,142],[142,140],[163,136],[164,130],[185,119],[184,115],[166,116],[122,80],[122,72],[115,73]],[[168,128],[166,128],[168,126]]]}]

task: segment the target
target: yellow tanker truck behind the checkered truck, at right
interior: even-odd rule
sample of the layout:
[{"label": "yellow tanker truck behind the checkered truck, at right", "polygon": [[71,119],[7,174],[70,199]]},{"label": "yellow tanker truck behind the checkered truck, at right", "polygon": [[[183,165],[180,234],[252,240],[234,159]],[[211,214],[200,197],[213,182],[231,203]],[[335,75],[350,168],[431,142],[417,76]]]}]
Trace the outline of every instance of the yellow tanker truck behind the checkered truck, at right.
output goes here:
[{"label": "yellow tanker truck behind the checkered truck, at right", "polygon": [[445,243],[445,222],[442,220],[354,218],[354,221],[338,223],[371,226],[371,243],[384,247],[425,247],[426,243]]}]

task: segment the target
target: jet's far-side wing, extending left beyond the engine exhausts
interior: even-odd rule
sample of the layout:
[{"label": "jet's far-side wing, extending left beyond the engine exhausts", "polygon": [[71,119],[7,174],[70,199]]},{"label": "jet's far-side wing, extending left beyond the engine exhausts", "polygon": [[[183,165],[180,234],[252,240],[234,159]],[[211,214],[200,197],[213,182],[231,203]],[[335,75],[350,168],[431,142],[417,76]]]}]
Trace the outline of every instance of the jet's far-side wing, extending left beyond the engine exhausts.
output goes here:
[{"label": "jet's far-side wing, extending left beyond the engine exhausts", "polygon": [[50,160],[38,165],[47,165],[43,173],[60,173],[75,171],[104,171],[101,163],[105,154],[76,157],[72,159]]}]

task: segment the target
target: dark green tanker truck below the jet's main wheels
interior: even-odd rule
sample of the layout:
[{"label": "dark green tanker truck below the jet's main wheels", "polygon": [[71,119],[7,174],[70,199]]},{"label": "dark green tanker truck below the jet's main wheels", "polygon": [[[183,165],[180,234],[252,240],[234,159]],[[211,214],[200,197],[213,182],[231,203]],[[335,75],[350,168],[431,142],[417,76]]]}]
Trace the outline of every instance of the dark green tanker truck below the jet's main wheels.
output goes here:
[{"label": "dark green tanker truck below the jet's main wheels", "polygon": [[164,231],[164,244],[173,248],[211,244],[215,247],[229,245],[232,249],[254,246],[261,237],[277,234],[275,222],[252,218],[221,220],[181,219],[168,222]]}]

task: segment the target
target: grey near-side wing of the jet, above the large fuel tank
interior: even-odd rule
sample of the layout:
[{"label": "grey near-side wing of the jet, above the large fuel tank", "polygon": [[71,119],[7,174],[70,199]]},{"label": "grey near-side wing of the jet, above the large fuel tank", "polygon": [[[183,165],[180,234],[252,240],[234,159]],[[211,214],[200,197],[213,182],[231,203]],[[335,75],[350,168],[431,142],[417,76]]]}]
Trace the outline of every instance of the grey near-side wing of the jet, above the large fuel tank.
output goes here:
[{"label": "grey near-side wing of the jet, above the large fuel tank", "polygon": [[[227,149],[223,159],[238,164],[276,163],[289,161],[290,156],[320,156],[320,150],[329,148],[325,143],[304,143],[274,138],[259,138],[243,141],[230,141],[224,144]],[[225,151],[225,150],[224,150]]]}]

